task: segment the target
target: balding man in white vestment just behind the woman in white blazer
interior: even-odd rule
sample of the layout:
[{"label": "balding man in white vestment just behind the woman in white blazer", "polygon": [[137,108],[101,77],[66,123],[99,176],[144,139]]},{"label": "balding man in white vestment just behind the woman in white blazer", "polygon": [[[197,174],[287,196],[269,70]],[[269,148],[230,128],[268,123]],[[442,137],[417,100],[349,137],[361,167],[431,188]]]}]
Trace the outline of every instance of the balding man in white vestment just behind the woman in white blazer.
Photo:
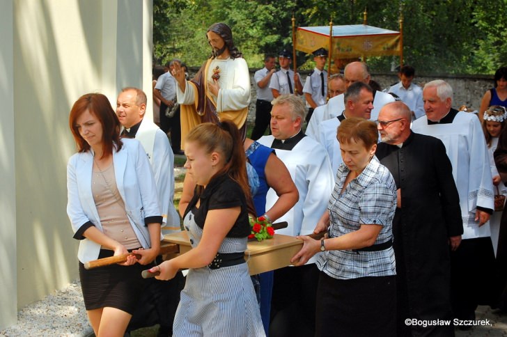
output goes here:
[{"label": "balding man in white vestment just behind the woman in white blazer", "polygon": [[[174,207],[174,156],[169,139],[146,115],[146,94],[139,88],[123,88],[116,100],[116,116],[124,129],[121,136],[137,139],[150,160],[157,185],[157,196],[162,214],[162,233],[181,231],[180,216]],[[157,256],[157,263],[162,256]],[[132,315],[127,331],[159,324],[159,334],[172,334],[173,320],[180,301],[178,294],[185,279],[178,272],[171,281],[146,280],[146,287]]]}]

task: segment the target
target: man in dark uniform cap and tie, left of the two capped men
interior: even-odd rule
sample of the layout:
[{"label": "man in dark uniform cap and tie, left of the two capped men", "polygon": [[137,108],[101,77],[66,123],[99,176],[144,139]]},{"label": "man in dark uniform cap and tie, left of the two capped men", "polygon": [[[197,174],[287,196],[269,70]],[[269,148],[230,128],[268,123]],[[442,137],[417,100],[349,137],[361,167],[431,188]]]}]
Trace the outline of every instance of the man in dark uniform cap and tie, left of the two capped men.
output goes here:
[{"label": "man in dark uniform cap and tie, left of the two capped men", "polygon": [[294,73],[290,69],[290,52],[287,49],[283,49],[278,55],[280,70],[273,74],[270,82],[273,97],[276,98],[284,93],[301,95],[303,85],[301,84],[301,80],[299,80],[299,73]]}]

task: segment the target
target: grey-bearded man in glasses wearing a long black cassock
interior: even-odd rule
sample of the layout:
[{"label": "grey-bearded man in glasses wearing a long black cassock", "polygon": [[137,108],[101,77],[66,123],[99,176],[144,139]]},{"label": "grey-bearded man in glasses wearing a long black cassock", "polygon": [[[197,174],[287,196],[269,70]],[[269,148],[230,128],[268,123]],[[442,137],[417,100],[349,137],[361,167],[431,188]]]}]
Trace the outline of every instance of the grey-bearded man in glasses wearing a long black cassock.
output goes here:
[{"label": "grey-bearded man in glasses wearing a long black cassock", "polygon": [[453,325],[407,325],[407,318],[451,320],[449,251],[463,233],[458,190],[442,141],[410,130],[403,102],[386,104],[377,120],[376,156],[398,189],[393,220],[398,336],[453,336]]}]

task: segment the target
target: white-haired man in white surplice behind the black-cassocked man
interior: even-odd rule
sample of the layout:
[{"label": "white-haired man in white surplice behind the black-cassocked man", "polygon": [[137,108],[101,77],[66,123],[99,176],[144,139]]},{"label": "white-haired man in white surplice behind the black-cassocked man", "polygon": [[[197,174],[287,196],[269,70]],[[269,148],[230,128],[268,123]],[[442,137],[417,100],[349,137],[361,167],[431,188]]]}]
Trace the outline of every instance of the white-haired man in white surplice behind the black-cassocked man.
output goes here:
[{"label": "white-haired man in white surplice behind the black-cassocked man", "polygon": [[453,90],[445,81],[426,84],[426,116],[415,120],[412,130],[440,139],[453,166],[463,235],[458,249],[451,252],[451,302],[455,318],[473,320],[476,306],[493,300],[494,252],[488,221],[494,192],[481,123],[473,113],[452,109],[452,100]]}]

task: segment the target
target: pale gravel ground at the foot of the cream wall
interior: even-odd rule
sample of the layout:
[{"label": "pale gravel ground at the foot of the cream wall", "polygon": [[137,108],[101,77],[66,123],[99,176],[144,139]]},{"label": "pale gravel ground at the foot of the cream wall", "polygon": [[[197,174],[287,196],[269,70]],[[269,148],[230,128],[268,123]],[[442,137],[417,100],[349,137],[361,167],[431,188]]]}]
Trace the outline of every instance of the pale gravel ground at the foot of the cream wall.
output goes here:
[{"label": "pale gravel ground at the foot of the cream wall", "polygon": [[17,324],[0,331],[0,336],[88,336],[91,332],[77,280],[22,308]]}]

